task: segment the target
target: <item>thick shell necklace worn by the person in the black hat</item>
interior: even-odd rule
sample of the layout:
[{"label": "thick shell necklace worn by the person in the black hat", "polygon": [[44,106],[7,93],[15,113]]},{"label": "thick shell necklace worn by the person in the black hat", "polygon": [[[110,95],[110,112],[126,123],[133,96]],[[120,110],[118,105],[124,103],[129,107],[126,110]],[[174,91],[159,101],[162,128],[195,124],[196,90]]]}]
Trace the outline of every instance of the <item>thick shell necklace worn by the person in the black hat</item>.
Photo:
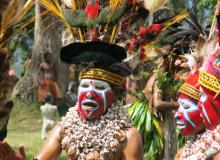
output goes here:
[{"label": "thick shell necklace worn by the person in the black hat", "polygon": [[132,127],[126,109],[113,104],[100,119],[85,120],[77,106],[60,122],[62,148],[71,160],[111,160],[126,140],[124,129]]}]

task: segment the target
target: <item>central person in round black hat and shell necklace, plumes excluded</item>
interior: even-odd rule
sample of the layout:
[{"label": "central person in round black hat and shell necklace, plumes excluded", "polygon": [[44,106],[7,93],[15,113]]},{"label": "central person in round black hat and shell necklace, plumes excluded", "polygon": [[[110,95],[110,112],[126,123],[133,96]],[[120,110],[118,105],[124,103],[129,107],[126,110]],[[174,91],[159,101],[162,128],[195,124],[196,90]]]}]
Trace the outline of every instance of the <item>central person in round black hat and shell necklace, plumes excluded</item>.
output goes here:
[{"label": "central person in round black hat and shell necklace, plumes excluded", "polygon": [[61,60],[80,69],[78,102],[51,132],[36,156],[57,159],[61,150],[71,160],[142,160],[141,137],[122,105],[125,77],[122,47],[100,41],[72,43]]}]

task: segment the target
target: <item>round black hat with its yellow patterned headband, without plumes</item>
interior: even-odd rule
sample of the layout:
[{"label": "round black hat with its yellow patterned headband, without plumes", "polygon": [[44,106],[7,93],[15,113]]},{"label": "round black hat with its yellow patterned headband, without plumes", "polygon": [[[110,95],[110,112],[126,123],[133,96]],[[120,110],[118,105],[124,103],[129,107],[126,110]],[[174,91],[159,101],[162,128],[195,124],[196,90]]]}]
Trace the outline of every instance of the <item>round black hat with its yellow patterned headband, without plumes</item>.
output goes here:
[{"label": "round black hat with its yellow patterned headband, without plumes", "polygon": [[125,49],[101,41],[71,43],[61,49],[60,57],[63,62],[82,69],[80,79],[103,80],[123,87],[125,76],[131,73],[129,66],[122,63]]}]

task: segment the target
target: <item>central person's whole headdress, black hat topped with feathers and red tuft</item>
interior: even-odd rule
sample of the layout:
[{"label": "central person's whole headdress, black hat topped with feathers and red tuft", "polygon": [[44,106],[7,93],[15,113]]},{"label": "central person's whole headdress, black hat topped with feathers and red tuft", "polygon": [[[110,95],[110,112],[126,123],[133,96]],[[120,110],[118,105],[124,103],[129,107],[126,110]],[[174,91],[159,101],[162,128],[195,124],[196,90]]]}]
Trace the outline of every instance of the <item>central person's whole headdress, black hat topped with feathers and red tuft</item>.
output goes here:
[{"label": "central person's whole headdress, black hat topped with feathers and red tuft", "polygon": [[[61,19],[73,35],[75,43],[67,46],[64,43],[65,47],[61,50],[63,62],[77,64],[88,71],[89,68],[111,71],[123,78],[130,74],[129,66],[122,62],[122,59],[126,58],[126,51],[115,44],[121,42],[119,35],[121,18],[127,13],[129,16],[132,15],[132,0],[63,0],[62,5],[59,5],[57,0],[40,0],[40,2]],[[93,78],[98,77],[100,73],[98,69],[93,72],[97,72],[94,74],[96,77]],[[81,74],[81,79],[90,76],[91,72],[87,72],[86,76],[85,72]],[[104,74],[104,71],[102,72]],[[109,82],[116,85],[121,83],[117,81],[117,76],[112,77],[111,74],[105,73]],[[99,76],[100,80],[106,78],[101,74]],[[123,78],[118,79],[123,80]]]}]

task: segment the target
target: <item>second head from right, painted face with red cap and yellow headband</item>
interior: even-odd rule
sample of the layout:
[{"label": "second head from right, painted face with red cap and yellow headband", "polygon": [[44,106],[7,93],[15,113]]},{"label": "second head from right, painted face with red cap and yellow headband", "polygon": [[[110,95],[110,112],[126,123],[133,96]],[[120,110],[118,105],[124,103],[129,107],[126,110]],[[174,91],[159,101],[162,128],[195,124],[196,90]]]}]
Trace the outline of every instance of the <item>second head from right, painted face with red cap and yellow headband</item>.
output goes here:
[{"label": "second head from right, painted face with red cap and yellow headband", "polygon": [[198,107],[198,101],[201,97],[198,78],[198,70],[191,72],[178,91],[180,106],[175,113],[175,119],[177,128],[184,136],[196,134],[205,128],[200,116],[201,109]]}]

